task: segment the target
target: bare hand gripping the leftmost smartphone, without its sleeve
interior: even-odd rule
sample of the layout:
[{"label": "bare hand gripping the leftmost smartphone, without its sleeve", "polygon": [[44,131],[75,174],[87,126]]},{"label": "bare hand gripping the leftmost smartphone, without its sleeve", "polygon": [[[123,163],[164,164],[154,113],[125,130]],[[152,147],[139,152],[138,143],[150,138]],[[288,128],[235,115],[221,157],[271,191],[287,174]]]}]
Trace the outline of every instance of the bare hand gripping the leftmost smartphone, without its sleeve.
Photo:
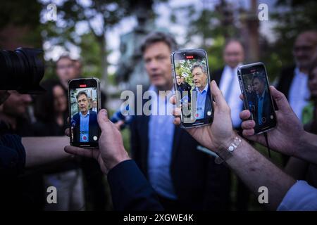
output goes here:
[{"label": "bare hand gripping the leftmost smartphone, without its sleeve", "polygon": [[[123,147],[123,140],[118,128],[108,119],[107,111],[100,110],[98,113],[98,124],[101,129],[99,138],[99,149],[78,148],[66,146],[66,153],[95,158],[100,165],[101,171],[108,171],[120,162],[130,160],[128,153]],[[69,133],[69,129],[66,130]],[[69,134],[68,134],[69,135]]]}]

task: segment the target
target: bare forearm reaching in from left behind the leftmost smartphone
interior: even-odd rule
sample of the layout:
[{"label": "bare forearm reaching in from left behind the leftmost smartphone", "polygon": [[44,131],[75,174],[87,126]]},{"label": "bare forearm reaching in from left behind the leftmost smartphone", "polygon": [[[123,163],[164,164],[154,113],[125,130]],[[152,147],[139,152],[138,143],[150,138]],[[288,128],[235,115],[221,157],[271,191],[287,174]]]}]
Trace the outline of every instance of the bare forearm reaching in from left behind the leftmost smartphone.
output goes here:
[{"label": "bare forearm reaching in from left behind the leftmost smartphone", "polygon": [[25,167],[35,167],[58,160],[65,160],[71,155],[63,148],[68,145],[67,136],[24,137],[22,143],[25,148]]}]

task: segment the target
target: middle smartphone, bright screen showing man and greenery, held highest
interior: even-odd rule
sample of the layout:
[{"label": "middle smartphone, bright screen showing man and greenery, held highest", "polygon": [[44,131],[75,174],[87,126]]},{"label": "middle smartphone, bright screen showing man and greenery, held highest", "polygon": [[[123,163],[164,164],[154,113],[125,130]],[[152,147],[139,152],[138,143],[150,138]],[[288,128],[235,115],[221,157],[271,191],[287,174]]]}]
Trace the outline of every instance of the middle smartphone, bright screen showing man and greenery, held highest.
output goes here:
[{"label": "middle smartphone, bright screen showing man and greenery, held highest", "polygon": [[213,122],[213,98],[207,53],[185,49],[170,55],[180,127],[199,127]]}]

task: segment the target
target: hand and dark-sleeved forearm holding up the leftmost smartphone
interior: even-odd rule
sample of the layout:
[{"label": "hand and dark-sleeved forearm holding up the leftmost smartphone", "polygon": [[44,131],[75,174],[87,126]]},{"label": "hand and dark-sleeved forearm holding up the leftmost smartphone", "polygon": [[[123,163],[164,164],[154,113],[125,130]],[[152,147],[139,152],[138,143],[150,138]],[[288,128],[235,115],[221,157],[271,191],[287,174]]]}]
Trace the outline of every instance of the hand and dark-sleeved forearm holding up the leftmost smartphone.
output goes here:
[{"label": "hand and dark-sleeved forearm holding up the leftmost smartphone", "polygon": [[163,210],[153,188],[135,162],[130,160],[120,131],[108,120],[106,110],[99,111],[98,124],[101,129],[99,149],[66,146],[65,151],[95,158],[99,162],[101,171],[108,174],[116,210]]}]

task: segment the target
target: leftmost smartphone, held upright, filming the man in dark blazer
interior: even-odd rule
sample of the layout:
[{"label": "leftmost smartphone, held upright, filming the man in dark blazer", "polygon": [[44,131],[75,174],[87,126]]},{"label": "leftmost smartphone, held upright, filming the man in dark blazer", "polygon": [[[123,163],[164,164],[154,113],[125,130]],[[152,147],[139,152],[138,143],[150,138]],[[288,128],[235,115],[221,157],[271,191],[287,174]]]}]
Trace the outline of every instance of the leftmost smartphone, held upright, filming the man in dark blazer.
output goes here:
[{"label": "leftmost smartphone, held upright, filming the man in dark blazer", "polygon": [[100,129],[100,82],[97,78],[71,79],[68,82],[70,145],[97,148]]}]

